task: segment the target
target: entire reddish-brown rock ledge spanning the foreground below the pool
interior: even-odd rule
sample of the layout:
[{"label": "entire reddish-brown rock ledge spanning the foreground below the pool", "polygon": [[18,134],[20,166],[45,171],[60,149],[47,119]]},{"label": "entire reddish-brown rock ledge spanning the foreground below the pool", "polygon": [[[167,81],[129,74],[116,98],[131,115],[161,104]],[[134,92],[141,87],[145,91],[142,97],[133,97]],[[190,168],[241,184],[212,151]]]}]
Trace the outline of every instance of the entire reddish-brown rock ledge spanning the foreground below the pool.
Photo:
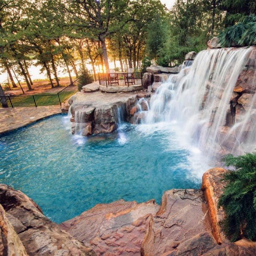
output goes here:
[{"label": "entire reddish-brown rock ledge spanning the foreground below the pool", "polygon": [[165,191],[160,206],[155,200],[118,200],[98,204],[60,225],[46,218],[21,191],[0,185],[0,203],[6,211],[0,207],[2,238],[8,230],[13,234],[9,241],[15,240],[16,246],[13,249],[12,242],[3,238],[0,250],[20,252],[0,255],[255,256],[255,242],[241,239],[230,243],[218,226],[224,217],[217,206],[225,171],[207,171],[203,191]]}]

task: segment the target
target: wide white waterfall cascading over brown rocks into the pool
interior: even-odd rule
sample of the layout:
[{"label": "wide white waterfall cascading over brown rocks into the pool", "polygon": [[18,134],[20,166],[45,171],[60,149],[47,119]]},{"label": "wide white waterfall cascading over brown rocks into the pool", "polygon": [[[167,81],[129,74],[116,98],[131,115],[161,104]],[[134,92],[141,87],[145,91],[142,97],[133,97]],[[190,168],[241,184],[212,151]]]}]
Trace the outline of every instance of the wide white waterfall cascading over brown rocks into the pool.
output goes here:
[{"label": "wide white waterfall cascading over brown rocks into the pool", "polygon": [[256,47],[203,50],[151,97],[144,123],[168,122],[209,160],[256,148]]}]

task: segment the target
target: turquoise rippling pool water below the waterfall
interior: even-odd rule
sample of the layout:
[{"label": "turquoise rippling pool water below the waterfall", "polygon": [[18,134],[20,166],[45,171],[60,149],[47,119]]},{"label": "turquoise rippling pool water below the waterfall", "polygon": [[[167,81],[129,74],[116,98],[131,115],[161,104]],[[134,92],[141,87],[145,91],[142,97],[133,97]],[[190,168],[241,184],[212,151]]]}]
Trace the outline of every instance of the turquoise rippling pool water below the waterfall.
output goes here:
[{"label": "turquoise rippling pool water below the waterfall", "polygon": [[161,201],[165,190],[199,188],[191,152],[168,125],[123,125],[111,135],[71,135],[56,115],[0,137],[0,182],[61,223],[97,203]]}]

